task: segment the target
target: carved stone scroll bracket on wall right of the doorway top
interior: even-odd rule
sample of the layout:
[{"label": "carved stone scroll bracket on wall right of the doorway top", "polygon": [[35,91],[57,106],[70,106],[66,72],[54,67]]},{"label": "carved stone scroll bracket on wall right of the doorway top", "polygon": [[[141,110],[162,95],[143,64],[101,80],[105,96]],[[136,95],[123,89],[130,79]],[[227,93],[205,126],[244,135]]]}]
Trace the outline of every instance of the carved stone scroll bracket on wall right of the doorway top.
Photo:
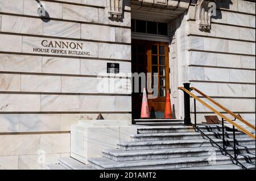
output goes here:
[{"label": "carved stone scroll bracket on wall right of the doorway top", "polygon": [[214,1],[199,0],[196,4],[196,19],[199,24],[199,30],[204,32],[210,31],[211,16],[216,8]]}]

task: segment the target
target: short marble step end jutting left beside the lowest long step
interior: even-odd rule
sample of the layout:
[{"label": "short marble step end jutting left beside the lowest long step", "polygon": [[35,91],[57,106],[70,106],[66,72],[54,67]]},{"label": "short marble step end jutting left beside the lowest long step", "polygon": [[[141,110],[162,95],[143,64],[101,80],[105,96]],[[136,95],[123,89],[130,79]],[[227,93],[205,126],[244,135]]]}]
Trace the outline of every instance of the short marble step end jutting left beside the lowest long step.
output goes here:
[{"label": "short marble step end jutting left beside the lowest long step", "polygon": [[60,158],[59,162],[67,170],[95,170],[92,166],[85,165],[71,157]]}]

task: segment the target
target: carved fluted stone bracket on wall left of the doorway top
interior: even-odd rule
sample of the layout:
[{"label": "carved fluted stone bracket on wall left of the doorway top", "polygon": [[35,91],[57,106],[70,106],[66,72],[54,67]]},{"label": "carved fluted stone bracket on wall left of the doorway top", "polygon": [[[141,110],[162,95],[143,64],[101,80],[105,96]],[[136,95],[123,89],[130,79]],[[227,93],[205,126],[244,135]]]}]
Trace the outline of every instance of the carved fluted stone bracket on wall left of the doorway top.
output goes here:
[{"label": "carved fluted stone bracket on wall left of the doorway top", "polygon": [[108,0],[109,18],[121,20],[123,15],[123,0]]}]

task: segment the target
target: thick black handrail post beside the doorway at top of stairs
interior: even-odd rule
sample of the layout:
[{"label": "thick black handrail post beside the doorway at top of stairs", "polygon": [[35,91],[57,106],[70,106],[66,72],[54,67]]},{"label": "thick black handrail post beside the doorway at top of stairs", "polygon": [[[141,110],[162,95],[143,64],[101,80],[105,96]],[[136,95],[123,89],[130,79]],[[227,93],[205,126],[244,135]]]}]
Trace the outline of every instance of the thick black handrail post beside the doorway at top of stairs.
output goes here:
[{"label": "thick black handrail post beside the doorway at top of stairs", "polygon": [[[183,83],[184,89],[190,91],[190,83]],[[184,92],[184,125],[191,125],[190,96]]]}]

